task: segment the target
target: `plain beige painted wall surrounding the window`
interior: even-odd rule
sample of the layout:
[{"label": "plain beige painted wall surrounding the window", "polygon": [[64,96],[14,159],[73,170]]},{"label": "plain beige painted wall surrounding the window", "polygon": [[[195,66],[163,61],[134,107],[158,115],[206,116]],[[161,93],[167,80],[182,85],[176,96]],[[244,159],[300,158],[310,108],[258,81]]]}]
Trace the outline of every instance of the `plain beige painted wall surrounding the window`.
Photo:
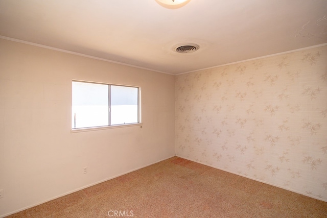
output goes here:
[{"label": "plain beige painted wall surrounding the window", "polygon": [[[2,39],[0,63],[0,216],[175,155],[174,76]],[[143,128],[71,133],[73,79],[141,86]]]}]

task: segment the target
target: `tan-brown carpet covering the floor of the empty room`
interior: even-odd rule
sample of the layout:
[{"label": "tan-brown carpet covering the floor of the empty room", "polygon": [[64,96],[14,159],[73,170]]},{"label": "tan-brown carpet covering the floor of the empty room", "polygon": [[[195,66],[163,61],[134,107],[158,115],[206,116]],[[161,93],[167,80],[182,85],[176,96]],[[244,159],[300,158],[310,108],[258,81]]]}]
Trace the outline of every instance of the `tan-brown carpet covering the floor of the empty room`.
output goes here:
[{"label": "tan-brown carpet covering the floor of the empty room", "polygon": [[173,157],[8,217],[327,217],[327,202]]}]

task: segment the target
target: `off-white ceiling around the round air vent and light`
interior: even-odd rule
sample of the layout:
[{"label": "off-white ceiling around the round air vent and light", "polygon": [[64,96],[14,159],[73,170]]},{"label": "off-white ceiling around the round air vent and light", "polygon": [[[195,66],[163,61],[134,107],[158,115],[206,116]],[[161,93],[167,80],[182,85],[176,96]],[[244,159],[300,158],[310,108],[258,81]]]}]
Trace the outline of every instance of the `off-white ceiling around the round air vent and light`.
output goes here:
[{"label": "off-white ceiling around the round air vent and light", "polygon": [[176,75],[327,43],[327,1],[0,0],[0,35]]}]

